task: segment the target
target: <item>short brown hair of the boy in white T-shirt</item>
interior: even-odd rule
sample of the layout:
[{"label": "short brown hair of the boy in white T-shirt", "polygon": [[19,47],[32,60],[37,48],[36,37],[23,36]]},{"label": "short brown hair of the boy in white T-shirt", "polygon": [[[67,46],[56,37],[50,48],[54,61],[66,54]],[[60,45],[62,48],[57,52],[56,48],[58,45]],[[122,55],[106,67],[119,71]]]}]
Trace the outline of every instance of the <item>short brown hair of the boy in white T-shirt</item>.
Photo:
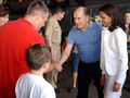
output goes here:
[{"label": "short brown hair of the boy in white T-shirt", "polygon": [[50,63],[50,47],[43,44],[34,44],[28,47],[26,49],[26,61],[30,70],[40,70],[43,64]]}]

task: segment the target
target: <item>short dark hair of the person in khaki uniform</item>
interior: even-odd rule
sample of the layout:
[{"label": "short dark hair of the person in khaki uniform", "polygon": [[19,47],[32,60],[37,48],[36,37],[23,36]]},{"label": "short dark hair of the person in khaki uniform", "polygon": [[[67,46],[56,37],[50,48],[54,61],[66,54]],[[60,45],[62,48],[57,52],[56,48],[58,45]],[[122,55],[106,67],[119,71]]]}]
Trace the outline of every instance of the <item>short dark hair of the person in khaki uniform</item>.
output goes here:
[{"label": "short dark hair of the person in khaki uniform", "polygon": [[56,14],[56,13],[63,13],[65,12],[65,8],[63,8],[61,4],[56,4],[56,5],[53,5],[52,10],[51,10],[51,14]]}]

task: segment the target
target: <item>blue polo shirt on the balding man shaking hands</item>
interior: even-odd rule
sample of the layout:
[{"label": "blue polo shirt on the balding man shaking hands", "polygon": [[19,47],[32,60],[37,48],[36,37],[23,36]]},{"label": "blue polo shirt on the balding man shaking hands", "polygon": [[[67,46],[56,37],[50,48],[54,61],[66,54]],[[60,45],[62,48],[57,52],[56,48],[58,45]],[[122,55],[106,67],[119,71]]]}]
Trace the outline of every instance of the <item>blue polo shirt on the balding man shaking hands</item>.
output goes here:
[{"label": "blue polo shirt on the balding man shaking hands", "polygon": [[86,32],[74,26],[67,42],[77,45],[79,58],[82,62],[93,63],[100,60],[102,25],[90,21]]}]

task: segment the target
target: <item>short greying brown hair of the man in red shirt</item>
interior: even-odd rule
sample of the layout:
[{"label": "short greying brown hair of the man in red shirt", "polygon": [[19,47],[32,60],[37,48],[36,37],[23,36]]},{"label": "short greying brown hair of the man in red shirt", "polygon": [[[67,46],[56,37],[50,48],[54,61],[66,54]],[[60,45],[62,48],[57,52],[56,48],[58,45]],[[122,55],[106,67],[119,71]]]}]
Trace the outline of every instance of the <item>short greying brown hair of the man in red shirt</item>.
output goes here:
[{"label": "short greying brown hair of the man in red shirt", "polygon": [[36,15],[37,13],[41,13],[43,16],[49,12],[47,4],[43,0],[32,0],[28,5],[27,15]]}]

